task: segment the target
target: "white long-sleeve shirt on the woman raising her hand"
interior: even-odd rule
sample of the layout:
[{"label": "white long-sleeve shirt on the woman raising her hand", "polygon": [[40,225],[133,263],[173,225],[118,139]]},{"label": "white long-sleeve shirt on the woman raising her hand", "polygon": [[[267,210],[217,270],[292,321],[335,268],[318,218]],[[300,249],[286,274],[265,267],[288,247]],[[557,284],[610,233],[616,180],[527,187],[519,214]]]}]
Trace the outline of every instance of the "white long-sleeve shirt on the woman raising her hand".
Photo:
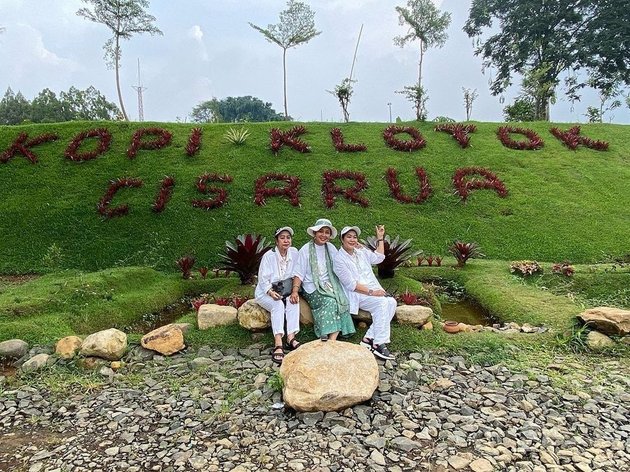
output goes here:
[{"label": "white long-sleeve shirt on the woman raising her hand", "polygon": [[355,249],[353,255],[348,254],[343,248],[337,253],[333,270],[348,297],[350,313],[356,314],[359,310],[360,294],[354,291],[357,284],[365,285],[372,290],[383,290],[372,266],[383,262],[384,259],[383,254],[367,248]]}]

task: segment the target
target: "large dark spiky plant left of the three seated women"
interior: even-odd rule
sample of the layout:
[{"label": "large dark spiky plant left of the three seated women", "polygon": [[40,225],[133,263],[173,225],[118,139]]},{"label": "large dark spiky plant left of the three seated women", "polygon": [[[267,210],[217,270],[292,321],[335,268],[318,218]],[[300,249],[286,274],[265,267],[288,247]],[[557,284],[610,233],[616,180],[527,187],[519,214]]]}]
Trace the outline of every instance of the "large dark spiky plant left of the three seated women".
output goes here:
[{"label": "large dark spiky plant left of the three seated women", "polygon": [[236,272],[242,285],[254,282],[262,256],[271,249],[265,238],[260,235],[240,234],[234,242],[225,242],[225,254],[220,270]]}]

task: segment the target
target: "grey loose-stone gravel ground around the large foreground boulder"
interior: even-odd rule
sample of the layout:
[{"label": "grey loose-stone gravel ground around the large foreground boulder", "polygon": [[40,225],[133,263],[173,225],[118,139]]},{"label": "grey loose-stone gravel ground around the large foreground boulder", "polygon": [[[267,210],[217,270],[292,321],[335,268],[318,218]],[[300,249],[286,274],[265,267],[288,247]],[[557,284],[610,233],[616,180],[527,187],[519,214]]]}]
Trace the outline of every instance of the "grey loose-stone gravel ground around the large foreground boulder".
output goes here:
[{"label": "grey loose-stone gravel ground around the large foreground boulder", "polygon": [[261,346],[143,356],[63,382],[0,377],[0,470],[630,470],[625,359],[515,372],[413,353],[381,366],[369,404],[296,414]]}]

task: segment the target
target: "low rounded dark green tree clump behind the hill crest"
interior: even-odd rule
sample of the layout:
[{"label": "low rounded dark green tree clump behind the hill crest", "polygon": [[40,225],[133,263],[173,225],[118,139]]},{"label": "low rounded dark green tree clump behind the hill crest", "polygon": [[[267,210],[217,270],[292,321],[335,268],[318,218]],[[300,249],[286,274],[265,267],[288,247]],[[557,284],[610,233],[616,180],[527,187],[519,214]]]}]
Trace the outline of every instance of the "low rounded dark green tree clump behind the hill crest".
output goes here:
[{"label": "low rounded dark green tree clump behind the hill crest", "polygon": [[249,95],[227,97],[222,100],[213,98],[202,102],[193,108],[190,117],[196,123],[262,122],[284,119],[283,115],[271,107],[271,103],[265,103]]}]

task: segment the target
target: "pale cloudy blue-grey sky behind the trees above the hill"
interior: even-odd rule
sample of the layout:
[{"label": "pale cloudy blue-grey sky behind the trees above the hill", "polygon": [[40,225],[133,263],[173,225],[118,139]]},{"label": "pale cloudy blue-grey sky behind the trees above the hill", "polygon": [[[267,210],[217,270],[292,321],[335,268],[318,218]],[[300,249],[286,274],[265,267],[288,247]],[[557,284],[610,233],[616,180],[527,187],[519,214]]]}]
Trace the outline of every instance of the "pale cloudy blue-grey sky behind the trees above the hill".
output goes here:
[{"label": "pale cloudy blue-grey sky behind the trees above the hill", "polygon": [[[424,62],[429,119],[437,115],[465,119],[462,87],[477,89],[472,119],[502,121],[502,109],[518,95],[505,94],[505,103],[488,90],[489,74],[473,55],[472,41],[463,32],[471,0],[434,0],[452,13],[449,39],[442,49],[429,49]],[[310,0],[321,35],[288,52],[289,114],[300,121],[341,121],[339,105],[327,90],[350,72],[363,24],[350,104],[353,121],[414,118],[411,104],[395,93],[417,80],[417,46],[399,48],[394,10],[404,0]],[[103,60],[109,30],[78,17],[80,0],[0,0],[0,90],[20,90],[29,100],[44,88],[55,92],[90,85],[117,102],[114,71]],[[252,95],[271,102],[281,112],[282,50],[267,42],[248,22],[266,27],[277,23],[286,7],[281,0],[152,0],[150,13],[164,36],[135,36],[122,44],[121,82],[130,119],[138,117],[137,60],[140,59],[144,117],[151,121],[189,120],[192,108],[212,97]],[[518,85],[518,83],[517,83]],[[588,93],[574,109],[559,94],[551,118],[585,122],[586,107],[597,105]],[[608,115],[630,123],[630,110]]]}]

